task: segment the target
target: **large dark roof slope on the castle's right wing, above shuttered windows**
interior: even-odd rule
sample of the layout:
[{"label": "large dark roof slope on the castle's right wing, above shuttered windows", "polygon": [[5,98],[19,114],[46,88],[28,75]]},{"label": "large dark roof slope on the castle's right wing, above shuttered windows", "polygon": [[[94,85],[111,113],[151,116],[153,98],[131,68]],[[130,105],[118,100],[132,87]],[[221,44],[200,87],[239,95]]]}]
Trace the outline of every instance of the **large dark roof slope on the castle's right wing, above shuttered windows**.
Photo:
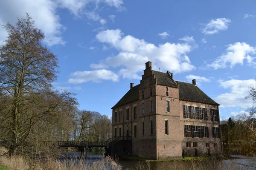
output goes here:
[{"label": "large dark roof slope on the castle's right wing, above shuttered windows", "polygon": [[212,103],[214,105],[219,105],[214,100],[212,100],[207,94],[201,91],[197,86],[187,83],[187,82],[179,82],[179,96],[180,99],[189,99],[198,102],[207,102]]}]

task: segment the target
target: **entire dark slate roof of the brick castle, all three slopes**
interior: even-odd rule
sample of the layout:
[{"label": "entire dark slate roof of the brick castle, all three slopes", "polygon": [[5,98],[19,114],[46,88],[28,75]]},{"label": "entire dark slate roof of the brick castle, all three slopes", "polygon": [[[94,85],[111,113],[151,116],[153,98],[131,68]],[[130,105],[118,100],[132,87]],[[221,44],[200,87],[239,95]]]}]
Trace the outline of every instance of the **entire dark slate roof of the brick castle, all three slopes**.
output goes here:
[{"label": "entire dark slate roof of the brick castle, all three slopes", "polygon": [[[214,100],[212,100],[207,94],[201,91],[200,88],[193,85],[192,83],[187,82],[178,82],[176,84],[175,80],[172,79],[169,73],[163,73],[160,71],[153,71],[155,78],[157,79],[158,85],[166,85],[171,87],[179,88],[179,97],[180,99],[192,100],[195,102],[205,102],[213,105],[219,105]],[[139,90],[140,84],[131,88],[123,97],[113,106],[113,108],[125,105],[130,102],[139,100]]]}]

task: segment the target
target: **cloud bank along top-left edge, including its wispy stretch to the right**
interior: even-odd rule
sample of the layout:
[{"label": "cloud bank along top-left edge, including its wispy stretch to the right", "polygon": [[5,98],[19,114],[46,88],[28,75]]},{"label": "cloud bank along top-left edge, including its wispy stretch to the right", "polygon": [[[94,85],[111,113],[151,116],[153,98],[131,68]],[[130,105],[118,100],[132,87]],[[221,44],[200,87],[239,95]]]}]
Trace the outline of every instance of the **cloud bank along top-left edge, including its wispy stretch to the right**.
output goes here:
[{"label": "cloud bank along top-left edge, including its wispy stretch to the right", "polygon": [[[62,33],[66,27],[57,14],[59,8],[68,9],[75,17],[87,17],[104,25],[107,21],[97,14],[97,7],[113,6],[123,9],[122,0],[7,0],[0,6],[0,25],[7,22],[17,23],[17,17],[26,17],[26,12],[35,20],[35,27],[45,34],[44,43],[48,46],[65,45]],[[7,32],[0,27],[0,43],[4,42]]]}]

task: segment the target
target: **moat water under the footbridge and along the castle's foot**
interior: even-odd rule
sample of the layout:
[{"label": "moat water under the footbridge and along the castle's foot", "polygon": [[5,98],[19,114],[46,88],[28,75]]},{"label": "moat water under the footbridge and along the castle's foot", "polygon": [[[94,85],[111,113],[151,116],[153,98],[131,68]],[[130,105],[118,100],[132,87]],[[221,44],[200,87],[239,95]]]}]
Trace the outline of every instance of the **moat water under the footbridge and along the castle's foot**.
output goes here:
[{"label": "moat water under the footbridge and along the castle's foot", "polygon": [[[80,158],[81,152],[63,152],[66,158]],[[201,160],[201,161],[171,161],[171,162],[140,162],[140,161],[119,161],[122,169],[145,169],[150,167],[151,170],[191,170],[191,169],[201,169],[201,170],[218,170],[226,169],[229,170],[256,170],[256,157],[253,156],[241,156],[241,155],[230,155],[232,160]],[[78,159],[78,161],[86,161],[87,163],[93,163],[99,159],[104,158],[104,153],[102,152],[88,152],[87,160]],[[246,164],[248,166],[244,166]],[[251,166],[251,167],[249,167]]]}]

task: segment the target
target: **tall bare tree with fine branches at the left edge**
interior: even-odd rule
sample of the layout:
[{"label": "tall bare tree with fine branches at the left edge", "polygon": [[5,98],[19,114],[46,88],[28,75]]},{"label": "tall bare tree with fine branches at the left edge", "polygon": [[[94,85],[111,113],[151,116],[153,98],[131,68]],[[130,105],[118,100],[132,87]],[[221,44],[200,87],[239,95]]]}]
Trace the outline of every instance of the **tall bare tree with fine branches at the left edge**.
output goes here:
[{"label": "tall bare tree with fine branches at the left edge", "polygon": [[[0,97],[9,101],[6,108],[9,116],[2,121],[10,125],[9,153],[13,154],[29,135],[35,124],[33,119],[53,113],[58,106],[51,91],[51,83],[57,78],[58,59],[41,44],[44,34],[34,27],[28,14],[15,25],[8,23],[3,28],[8,37],[0,46]],[[52,101],[45,102],[46,98]],[[40,115],[31,116],[40,109]]]}]

